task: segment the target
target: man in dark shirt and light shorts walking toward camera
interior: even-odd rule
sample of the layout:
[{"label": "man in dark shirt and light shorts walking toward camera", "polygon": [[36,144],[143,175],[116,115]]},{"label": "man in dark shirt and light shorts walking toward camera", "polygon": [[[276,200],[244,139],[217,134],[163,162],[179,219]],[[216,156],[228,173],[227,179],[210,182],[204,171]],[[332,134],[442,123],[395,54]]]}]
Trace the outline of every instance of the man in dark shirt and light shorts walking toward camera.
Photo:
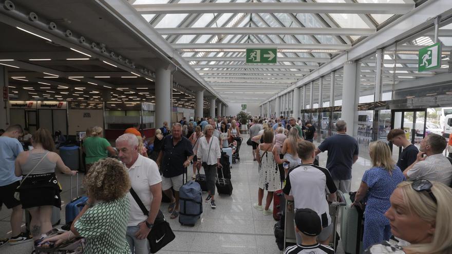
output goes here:
[{"label": "man in dark shirt and light shorts walking toward camera", "polygon": [[[168,207],[170,218],[176,219],[179,216],[179,189],[183,185],[183,173],[192,162],[194,154],[192,143],[182,136],[180,123],[173,124],[171,133],[163,140],[156,162],[163,173],[162,190],[171,199]],[[174,197],[171,188],[174,189]]]}]

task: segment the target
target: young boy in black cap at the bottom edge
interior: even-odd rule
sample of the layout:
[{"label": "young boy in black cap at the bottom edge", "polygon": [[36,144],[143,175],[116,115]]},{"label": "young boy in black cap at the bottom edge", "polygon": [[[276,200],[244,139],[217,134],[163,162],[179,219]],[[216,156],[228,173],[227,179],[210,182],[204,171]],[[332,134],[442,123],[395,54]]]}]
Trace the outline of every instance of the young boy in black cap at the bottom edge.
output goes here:
[{"label": "young boy in black cap at the bottom edge", "polygon": [[334,249],[319,244],[317,236],[322,232],[322,222],[312,209],[298,209],[295,212],[296,233],[302,238],[302,243],[289,246],[284,254],[335,254]]}]

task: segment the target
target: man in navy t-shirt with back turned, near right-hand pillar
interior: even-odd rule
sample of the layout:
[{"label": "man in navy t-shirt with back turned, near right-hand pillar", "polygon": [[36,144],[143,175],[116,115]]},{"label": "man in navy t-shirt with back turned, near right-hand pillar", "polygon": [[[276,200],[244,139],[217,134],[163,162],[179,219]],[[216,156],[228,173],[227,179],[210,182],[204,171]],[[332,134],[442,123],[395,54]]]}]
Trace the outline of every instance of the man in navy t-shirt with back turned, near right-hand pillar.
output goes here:
[{"label": "man in navy t-shirt with back turned, near right-hand pillar", "polygon": [[337,134],[330,136],[315,149],[315,155],[328,151],[327,168],[337,188],[350,192],[351,166],[358,160],[359,146],[356,139],[347,135],[347,123],[336,122]]}]

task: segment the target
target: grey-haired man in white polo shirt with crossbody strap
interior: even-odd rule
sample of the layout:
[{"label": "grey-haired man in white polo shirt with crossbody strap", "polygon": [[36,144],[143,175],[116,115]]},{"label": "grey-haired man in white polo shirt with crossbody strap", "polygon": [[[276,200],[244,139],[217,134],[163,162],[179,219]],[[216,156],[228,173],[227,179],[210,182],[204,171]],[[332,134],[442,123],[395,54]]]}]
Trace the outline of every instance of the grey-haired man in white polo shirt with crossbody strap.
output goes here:
[{"label": "grey-haired man in white polo shirt with crossbody strap", "polygon": [[[126,239],[131,253],[148,254],[149,242],[146,237],[159,214],[162,201],[162,178],[157,164],[138,153],[138,139],[134,134],[126,133],[116,140],[119,159],[125,164],[130,177],[131,187],[149,211],[145,216],[138,203],[127,194],[130,200],[130,217],[127,223]],[[158,218],[161,219],[161,218]]]}]

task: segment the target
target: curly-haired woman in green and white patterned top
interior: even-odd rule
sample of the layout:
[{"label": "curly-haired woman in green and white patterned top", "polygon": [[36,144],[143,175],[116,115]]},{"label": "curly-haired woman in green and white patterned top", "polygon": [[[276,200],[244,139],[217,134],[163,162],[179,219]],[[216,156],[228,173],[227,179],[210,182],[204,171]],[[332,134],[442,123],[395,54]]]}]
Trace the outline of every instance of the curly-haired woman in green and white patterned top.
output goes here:
[{"label": "curly-haired woman in green and white patterned top", "polygon": [[130,253],[126,241],[130,204],[126,193],[130,179],[124,166],[107,158],[94,163],[84,180],[88,202],[74,220],[71,230],[44,242],[59,245],[76,237],[86,238],[85,254]]}]

